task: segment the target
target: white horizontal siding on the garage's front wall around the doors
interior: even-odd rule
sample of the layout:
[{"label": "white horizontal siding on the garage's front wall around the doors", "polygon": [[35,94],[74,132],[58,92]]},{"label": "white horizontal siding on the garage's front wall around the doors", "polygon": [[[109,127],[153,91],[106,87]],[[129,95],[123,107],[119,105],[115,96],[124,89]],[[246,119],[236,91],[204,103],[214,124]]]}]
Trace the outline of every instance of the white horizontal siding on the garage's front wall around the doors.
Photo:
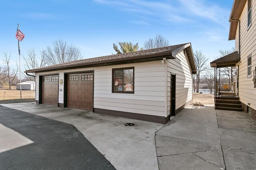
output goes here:
[{"label": "white horizontal siding on the garage's front wall around the doors", "polygon": [[[112,68],[134,66],[134,94],[112,93]],[[161,61],[79,68],[42,72],[36,74],[36,100],[38,100],[39,75],[94,70],[94,108],[126,111],[166,117],[166,72]],[[59,103],[64,103],[64,83],[59,85]]]}]

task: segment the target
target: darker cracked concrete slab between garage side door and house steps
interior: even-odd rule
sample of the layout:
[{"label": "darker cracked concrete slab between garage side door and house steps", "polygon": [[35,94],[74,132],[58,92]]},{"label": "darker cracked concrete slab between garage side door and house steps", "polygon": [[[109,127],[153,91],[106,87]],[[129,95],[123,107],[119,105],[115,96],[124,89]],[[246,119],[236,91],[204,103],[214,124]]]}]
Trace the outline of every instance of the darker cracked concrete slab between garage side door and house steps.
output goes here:
[{"label": "darker cracked concrete slab between garage side door and house steps", "polygon": [[155,138],[160,170],[256,167],[256,122],[243,112],[189,106]]}]

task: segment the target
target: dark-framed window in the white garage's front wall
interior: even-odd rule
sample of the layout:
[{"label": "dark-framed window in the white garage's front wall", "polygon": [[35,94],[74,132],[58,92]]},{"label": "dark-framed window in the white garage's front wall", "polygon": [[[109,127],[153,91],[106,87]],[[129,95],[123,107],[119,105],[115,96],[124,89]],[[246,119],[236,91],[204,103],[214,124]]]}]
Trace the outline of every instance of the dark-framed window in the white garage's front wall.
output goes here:
[{"label": "dark-framed window in the white garage's front wall", "polygon": [[112,70],[112,93],[134,94],[134,67]]}]

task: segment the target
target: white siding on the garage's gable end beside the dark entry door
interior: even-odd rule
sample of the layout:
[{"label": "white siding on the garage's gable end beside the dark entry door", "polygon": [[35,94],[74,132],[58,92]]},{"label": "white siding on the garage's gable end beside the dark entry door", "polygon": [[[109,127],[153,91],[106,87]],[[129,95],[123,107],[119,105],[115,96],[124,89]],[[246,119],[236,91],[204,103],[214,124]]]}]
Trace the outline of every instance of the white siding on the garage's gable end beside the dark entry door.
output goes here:
[{"label": "white siding on the garage's gable end beside the dark entry door", "polygon": [[170,114],[170,76],[176,74],[176,109],[192,100],[192,70],[187,54],[178,53],[167,63],[167,115]]}]

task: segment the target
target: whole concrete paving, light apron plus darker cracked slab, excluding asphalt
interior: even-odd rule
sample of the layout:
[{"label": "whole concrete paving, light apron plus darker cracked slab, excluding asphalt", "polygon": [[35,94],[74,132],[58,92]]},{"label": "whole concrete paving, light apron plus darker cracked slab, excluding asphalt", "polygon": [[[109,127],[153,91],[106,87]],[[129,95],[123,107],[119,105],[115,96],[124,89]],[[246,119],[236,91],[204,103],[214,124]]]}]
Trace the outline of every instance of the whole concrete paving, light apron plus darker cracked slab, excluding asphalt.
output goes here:
[{"label": "whole concrete paving, light apron plus darker cracked slab, excluding asphalt", "polygon": [[34,103],[2,105],[74,125],[116,169],[231,170],[256,165],[256,122],[243,112],[188,106],[162,125]]}]

